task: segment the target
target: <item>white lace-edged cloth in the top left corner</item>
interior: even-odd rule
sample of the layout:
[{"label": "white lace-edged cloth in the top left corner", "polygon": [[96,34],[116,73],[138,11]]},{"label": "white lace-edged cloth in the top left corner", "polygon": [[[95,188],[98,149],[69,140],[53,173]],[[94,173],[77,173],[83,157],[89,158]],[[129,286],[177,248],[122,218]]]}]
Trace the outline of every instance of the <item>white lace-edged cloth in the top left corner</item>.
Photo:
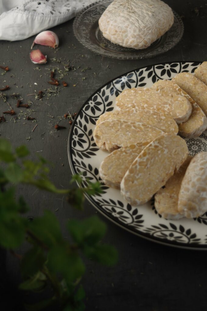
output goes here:
[{"label": "white lace-edged cloth in the top left corner", "polygon": [[75,17],[97,0],[0,0],[0,40],[23,40]]}]

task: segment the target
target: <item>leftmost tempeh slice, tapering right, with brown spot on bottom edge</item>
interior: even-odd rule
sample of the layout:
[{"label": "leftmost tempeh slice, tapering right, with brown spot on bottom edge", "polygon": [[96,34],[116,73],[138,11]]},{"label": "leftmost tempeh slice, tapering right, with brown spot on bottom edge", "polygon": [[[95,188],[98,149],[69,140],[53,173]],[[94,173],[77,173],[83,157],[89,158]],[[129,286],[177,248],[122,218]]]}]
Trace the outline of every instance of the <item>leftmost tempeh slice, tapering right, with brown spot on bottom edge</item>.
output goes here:
[{"label": "leftmost tempeh slice, tapering right, with brown spot on bottom edge", "polygon": [[153,126],[125,120],[105,120],[94,130],[94,141],[103,151],[113,151],[137,142],[152,142],[165,134]]}]

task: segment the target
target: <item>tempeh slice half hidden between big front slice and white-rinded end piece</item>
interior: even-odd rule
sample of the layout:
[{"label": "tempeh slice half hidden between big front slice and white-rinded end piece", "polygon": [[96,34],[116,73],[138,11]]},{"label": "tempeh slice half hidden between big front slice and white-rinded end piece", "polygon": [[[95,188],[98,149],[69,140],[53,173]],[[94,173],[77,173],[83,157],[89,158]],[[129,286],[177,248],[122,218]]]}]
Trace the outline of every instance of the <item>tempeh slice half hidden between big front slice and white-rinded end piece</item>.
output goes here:
[{"label": "tempeh slice half hidden between big front slice and white-rinded end piece", "polygon": [[188,156],[179,170],[168,179],[165,188],[158,190],[155,195],[156,210],[166,219],[180,219],[183,217],[178,211],[178,195],[181,189],[181,182],[191,159],[192,157]]}]

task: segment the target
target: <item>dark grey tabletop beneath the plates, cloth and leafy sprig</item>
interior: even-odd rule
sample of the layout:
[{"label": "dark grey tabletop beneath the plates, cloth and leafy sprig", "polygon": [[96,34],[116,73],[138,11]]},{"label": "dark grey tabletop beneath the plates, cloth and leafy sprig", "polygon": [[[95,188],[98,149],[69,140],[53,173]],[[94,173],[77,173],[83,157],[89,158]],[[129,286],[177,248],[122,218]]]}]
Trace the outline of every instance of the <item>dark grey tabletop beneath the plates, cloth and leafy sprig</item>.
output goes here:
[{"label": "dark grey tabletop beneath the plates, cloth and leafy sprig", "polygon": [[[14,123],[7,116],[8,123],[0,124],[1,137],[8,138],[13,146],[25,144],[31,151],[33,160],[41,155],[51,161],[54,167],[50,176],[58,187],[68,187],[71,176],[67,155],[70,125],[64,119],[59,121],[58,117],[68,111],[78,112],[96,89],[124,72],[159,62],[206,60],[206,0],[166,0],[166,3],[183,16],[184,35],[172,50],[151,59],[122,61],[96,55],[75,38],[73,20],[52,29],[60,38],[59,50],[41,47],[41,51],[49,59],[46,65],[35,65],[29,59],[33,37],[16,42],[0,41],[0,64],[5,63],[10,68],[6,75],[0,75],[0,86],[8,84],[11,87],[8,94],[17,92],[21,94],[24,102],[31,100],[31,108],[36,110],[33,114],[38,120],[38,126],[31,132],[34,123],[23,118]],[[69,60],[76,70],[71,70],[64,78],[68,83],[67,88],[63,89],[61,86],[60,94],[50,97],[49,100],[45,96],[40,102],[35,100],[34,95],[27,95],[50,87],[47,83],[50,77],[49,68],[63,68],[62,64],[53,63],[52,58],[61,59],[65,63]],[[86,67],[91,69],[82,72]],[[2,101],[0,104],[2,113],[7,105]],[[15,106],[16,101],[10,100],[10,104]],[[67,129],[55,132],[54,125],[57,122]],[[30,140],[27,139],[29,137]],[[22,186],[18,193],[22,193],[30,204],[31,216],[41,215],[46,208],[55,211],[65,234],[65,220],[68,218],[80,219],[97,213],[87,202],[84,211],[78,212],[63,197],[33,188]],[[205,252],[152,243],[119,228],[100,214],[99,217],[108,225],[104,242],[113,244],[118,249],[119,262],[110,269],[86,262],[87,272],[83,279],[87,295],[86,310],[206,310]],[[24,310],[23,301],[27,297],[17,290],[20,279],[18,262],[4,252],[1,252],[0,262],[1,310]]]}]

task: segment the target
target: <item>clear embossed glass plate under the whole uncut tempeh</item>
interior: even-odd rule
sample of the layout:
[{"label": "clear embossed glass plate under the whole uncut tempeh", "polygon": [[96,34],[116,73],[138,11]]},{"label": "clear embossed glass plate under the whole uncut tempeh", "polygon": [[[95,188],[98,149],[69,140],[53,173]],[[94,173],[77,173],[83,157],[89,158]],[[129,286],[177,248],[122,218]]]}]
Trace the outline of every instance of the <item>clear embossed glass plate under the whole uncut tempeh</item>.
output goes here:
[{"label": "clear embossed glass plate under the whole uncut tempeh", "polygon": [[150,58],[172,49],[182,38],[183,22],[180,16],[173,12],[172,27],[147,49],[128,49],[113,44],[103,37],[98,23],[100,16],[111,2],[112,0],[95,2],[79,12],[74,20],[73,31],[76,38],[94,53],[118,59]]}]

